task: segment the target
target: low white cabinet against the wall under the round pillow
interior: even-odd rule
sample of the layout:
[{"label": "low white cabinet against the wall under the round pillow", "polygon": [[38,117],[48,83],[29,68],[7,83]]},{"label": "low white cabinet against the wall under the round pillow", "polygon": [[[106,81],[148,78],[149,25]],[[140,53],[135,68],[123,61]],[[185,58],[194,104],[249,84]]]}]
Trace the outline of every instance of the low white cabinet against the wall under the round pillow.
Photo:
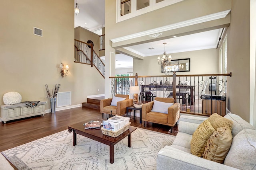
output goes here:
[{"label": "low white cabinet against the wall under the round pillow", "polygon": [[24,117],[44,115],[46,102],[39,102],[36,107],[30,107],[26,104],[14,104],[14,105],[1,105],[1,117],[0,119],[6,123],[6,121],[21,119]]}]

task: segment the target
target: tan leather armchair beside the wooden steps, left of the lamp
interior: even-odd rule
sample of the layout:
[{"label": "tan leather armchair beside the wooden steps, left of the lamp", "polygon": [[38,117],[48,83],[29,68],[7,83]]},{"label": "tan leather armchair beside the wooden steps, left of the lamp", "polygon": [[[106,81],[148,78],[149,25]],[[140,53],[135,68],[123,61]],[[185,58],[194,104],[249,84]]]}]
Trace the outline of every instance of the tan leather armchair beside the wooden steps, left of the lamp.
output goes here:
[{"label": "tan leather armchair beside the wooden steps, left of the lamp", "polygon": [[132,106],[133,101],[132,99],[129,99],[129,95],[116,94],[116,97],[126,98],[126,100],[117,102],[116,106],[110,106],[112,98],[100,100],[100,113],[102,113],[102,119],[104,113],[111,114],[111,110],[112,115],[124,115],[126,114],[126,107]]}]

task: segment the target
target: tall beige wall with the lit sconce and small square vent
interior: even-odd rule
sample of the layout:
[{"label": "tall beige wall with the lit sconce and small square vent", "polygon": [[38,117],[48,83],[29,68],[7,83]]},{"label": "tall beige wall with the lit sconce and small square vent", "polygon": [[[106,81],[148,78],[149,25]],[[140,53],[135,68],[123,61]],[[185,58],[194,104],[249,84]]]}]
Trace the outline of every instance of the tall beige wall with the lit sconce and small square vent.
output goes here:
[{"label": "tall beige wall with the lit sconce and small square vent", "polygon": [[[73,1],[0,1],[0,20],[0,104],[6,92],[15,91],[22,101],[47,101],[50,109],[44,84],[61,84],[59,92],[71,91],[72,105],[86,102],[87,95],[104,93],[104,79],[92,74],[95,68],[74,63]],[[33,35],[33,27],[43,29],[43,37]],[[64,78],[60,63],[70,67]]]}]

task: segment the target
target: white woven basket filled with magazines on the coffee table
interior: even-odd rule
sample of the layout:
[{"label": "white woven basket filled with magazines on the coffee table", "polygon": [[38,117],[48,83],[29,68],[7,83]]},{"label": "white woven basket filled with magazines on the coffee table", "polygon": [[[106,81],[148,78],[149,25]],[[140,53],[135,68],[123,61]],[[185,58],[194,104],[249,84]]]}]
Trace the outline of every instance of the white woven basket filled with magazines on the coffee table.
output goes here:
[{"label": "white woven basket filled with magazines on the coffee table", "polygon": [[118,131],[130,121],[130,117],[114,116],[103,121],[103,128],[110,131]]}]

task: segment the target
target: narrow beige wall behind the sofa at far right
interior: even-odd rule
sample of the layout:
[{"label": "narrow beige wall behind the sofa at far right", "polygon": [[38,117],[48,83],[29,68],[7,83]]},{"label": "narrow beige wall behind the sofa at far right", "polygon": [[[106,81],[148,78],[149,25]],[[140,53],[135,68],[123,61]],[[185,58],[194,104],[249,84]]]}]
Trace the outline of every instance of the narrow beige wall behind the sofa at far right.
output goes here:
[{"label": "narrow beige wall behind the sofa at far right", "polygon": [[[250,120],[250,1],[232,0],[227,30],[228,103],[230,111]],[[254,77],[255,78],[255,77]]]}]

